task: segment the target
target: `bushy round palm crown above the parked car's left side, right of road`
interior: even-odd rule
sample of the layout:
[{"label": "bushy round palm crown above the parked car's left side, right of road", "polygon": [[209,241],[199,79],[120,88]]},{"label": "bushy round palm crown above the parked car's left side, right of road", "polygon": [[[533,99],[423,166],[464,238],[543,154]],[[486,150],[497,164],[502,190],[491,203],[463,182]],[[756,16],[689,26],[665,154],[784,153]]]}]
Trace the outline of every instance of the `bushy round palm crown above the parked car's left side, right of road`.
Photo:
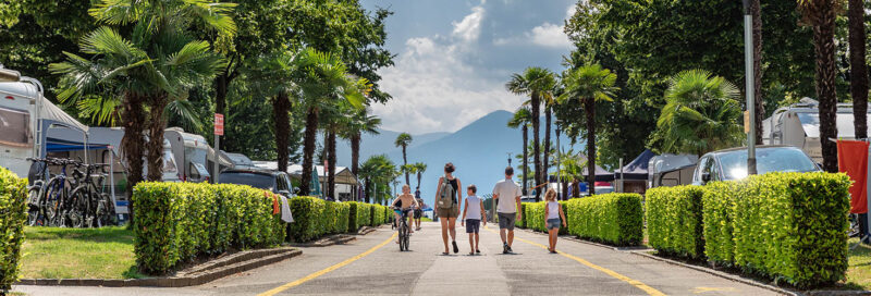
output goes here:
[{"label": "bushy round palm crown above the parked car's left side, right of road", "polygon": [[670,78],[654,135],[662,151],[701,156],[740,144],[739,94],[735,85],[703,70]]}]

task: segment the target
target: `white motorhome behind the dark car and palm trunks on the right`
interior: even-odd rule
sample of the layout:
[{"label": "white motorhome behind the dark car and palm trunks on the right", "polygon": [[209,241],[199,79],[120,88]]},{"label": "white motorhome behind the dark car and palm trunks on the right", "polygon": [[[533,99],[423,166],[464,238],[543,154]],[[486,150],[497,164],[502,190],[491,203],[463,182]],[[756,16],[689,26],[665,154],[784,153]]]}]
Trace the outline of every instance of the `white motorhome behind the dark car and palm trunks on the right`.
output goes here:
[{"label": "white motorhome behind the dark car and palm trunks on the right", "polygon": [[[762,144],[789,145],[803,150],[813,161],[823,161],[820,143],[819,102],[803,98],[798,103],[774,111],[762,122]],[[855,139],[852,106],[838,103],[835,115],[837,138]]]}]

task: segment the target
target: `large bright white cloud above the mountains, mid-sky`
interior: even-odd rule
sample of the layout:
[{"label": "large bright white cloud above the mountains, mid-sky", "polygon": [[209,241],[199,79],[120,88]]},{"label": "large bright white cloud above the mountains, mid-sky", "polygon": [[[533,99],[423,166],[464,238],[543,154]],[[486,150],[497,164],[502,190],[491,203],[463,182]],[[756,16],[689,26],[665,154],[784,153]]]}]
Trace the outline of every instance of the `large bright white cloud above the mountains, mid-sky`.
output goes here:
[{"label": "large bright white cloud above the mountains, mid-sky", "polygon": [[393,96],[372,111],[383,127],[409,133],[454,132],[496,110],[514,110],[522,99],[502,82],[482,78],[463,61],[467,51],[445,38],[405,42],[396,65],[384,69],[381,87]]}]

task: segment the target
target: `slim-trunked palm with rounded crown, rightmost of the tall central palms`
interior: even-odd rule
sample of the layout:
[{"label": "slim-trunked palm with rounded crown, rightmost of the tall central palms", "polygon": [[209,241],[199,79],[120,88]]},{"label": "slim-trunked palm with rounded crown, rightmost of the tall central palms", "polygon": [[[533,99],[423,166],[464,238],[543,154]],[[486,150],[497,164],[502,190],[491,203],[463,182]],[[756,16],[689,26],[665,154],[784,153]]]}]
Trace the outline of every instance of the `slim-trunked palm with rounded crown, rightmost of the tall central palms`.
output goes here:
[{"label": "slim-trunked palm with rounded crown, rightmost of the tall central palms", "polygon": [[590,195],[596,194],[596,101],[613,101],[617,75],[601,65],[569,70],[563,78],[565,92],[561,103],[582,103],[587,123],[587,173]]}]

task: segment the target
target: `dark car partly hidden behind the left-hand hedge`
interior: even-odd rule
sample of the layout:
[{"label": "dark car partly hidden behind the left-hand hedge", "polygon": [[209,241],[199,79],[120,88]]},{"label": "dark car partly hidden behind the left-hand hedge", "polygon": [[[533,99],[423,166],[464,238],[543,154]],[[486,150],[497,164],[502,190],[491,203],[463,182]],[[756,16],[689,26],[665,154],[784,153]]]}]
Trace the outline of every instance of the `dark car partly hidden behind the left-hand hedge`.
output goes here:
[{"label": "dark car partly hidden behind the left-hand hedge", "polygon": [[293,197],[293,185],[287,173],[275,170],[244,168],[228,169],[221,172],[218,183],[248,185],[266,189],[285,197]]}]

